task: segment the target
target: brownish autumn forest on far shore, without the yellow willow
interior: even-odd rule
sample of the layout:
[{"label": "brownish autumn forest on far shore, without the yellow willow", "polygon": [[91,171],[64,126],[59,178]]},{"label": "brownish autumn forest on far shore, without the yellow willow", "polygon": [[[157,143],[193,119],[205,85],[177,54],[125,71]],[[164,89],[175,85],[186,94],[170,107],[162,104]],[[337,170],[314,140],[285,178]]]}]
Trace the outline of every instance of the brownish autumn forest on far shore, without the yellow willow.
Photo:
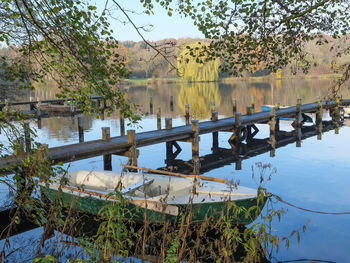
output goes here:
[{"label": "brownish autumn forest on far shore, without the yellow willow", "polygon": [[[346,43],[341,43],[339,40],[333,39],[330,36],[324,37],[328,40],[328,44],[318,45],[316,41],[305,44],[305,50],[310,54],[308,60],[312,65],[308,71],[308,75],[316,76],[337,73],[337,70],[341,69],[341,66],[344,63],[349,63],[350,61],[349,54],[342,54],[342,48]],[[119,54],[119,59],[126,64],[126,67],[130,72],[130,79],[176,78],[179,77],[179,75],[177,71],[174,70],[173,66],[179,66],[179,57],[184,54],[184,51],[186,52],[186,46],[195,45],[198,42],[209,43],[209,40],[171,38],[153,42],[152,45],[156,47],[157,50],[161,51],[164,56],[160,55],[157,50],[152,49],[143,41],[123,41],[120,42],[117,53]],[[11,56],[16,52],[15,50],[16,49],[3,47],[0,49],[0,57]],[[336,58],[336,60],[334,60],[334,58]],[[195,64],[196,63],[191,64],[192,69],[193,67],[196,67]],[[216,64],[219,65],[220,63],[218,62]],[[187,68],[189,67],[187,66]],[[257,67],[255,72],[244,72],[243,77],[266,76],[280,78],[292,75],[302,75],[302,71],[303,65],[295,61],[295,63],[278,71],[277,74],[271,74],[264,68],[264,64],[262,63]],[[216,74],[219,78],[229,77],[229,75],[222,74],[217,70]],[[212,80],[217,80],[217,77]]]}]

